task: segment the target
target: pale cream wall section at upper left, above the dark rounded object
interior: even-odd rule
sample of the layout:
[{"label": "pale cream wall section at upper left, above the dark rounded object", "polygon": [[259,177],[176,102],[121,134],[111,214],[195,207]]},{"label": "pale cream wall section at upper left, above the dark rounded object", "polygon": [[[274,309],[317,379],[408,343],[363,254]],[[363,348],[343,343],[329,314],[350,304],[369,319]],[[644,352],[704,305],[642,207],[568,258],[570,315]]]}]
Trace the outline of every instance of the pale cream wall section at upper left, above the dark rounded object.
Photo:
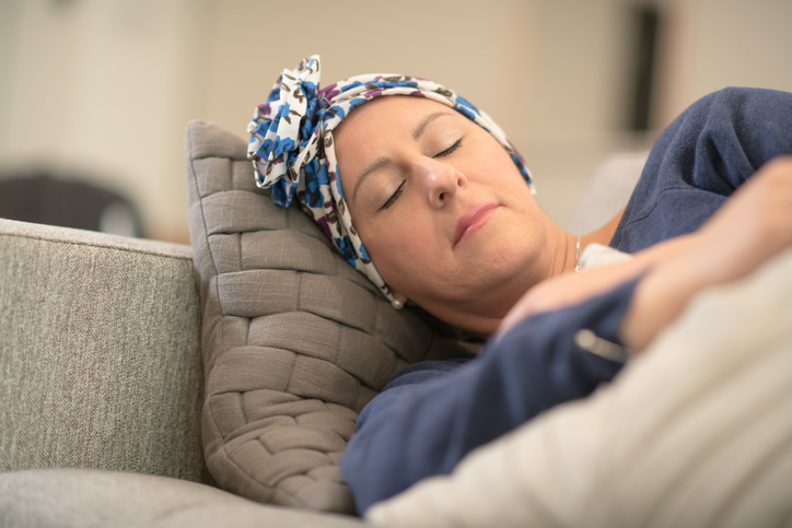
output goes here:
[{"label": "pale cream wall section at upper left, above the dark rounded object", "polygon": [[205,104],[194,46],[209,3],[13,3],[0,168],[101,180],[136,202],[149,234],[186,239],[183,138]]}]

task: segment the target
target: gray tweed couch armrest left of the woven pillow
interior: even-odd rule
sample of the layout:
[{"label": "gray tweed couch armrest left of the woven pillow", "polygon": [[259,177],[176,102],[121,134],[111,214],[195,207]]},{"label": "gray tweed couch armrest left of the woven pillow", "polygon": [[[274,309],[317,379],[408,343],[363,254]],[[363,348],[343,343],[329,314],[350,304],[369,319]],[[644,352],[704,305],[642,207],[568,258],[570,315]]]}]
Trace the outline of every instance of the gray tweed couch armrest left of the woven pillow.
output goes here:
[{"label": "gray tweed couch armrest left of the woven pillow", "polygon": [[190,249],[0,220],[0,471],[210,482]]}]

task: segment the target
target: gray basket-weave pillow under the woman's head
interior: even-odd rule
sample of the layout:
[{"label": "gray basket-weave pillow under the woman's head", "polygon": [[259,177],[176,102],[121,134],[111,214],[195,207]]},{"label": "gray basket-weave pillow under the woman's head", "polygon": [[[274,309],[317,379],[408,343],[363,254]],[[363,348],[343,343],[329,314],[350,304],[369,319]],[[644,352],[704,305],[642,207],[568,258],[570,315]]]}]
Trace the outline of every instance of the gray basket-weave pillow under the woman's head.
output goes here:
[{"label": "gray basket-weave pillow under the woman's head", "polygon": [[396,371],[462,345],[394,310],[299,208],[275,206],[241,138],[190,122],[187,167],[209,470],[255,501],[352,513],[338,462],[358,412]]}]

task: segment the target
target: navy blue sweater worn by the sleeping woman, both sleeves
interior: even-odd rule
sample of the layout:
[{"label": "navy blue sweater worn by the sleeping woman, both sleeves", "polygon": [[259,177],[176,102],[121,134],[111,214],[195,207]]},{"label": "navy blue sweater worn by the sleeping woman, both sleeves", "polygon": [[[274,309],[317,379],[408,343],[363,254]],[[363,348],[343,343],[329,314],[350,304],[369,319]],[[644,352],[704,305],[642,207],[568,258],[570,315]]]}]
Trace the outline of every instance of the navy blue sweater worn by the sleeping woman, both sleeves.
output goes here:
[{"label": "navy blue sweater worn by the sleeping woman, both sleeves", "polygon": [[[726,89],[661,133],[610,245],[634,253],[698,228],[765,162],[792,154],[792,94]],[[359,513],[449,473],[471,449],[590,395],[621,364],[574,343],[583,328],[619,343],[637,280],[525,319],[476,359],[399,372],[361,412],[341,470]]]}]

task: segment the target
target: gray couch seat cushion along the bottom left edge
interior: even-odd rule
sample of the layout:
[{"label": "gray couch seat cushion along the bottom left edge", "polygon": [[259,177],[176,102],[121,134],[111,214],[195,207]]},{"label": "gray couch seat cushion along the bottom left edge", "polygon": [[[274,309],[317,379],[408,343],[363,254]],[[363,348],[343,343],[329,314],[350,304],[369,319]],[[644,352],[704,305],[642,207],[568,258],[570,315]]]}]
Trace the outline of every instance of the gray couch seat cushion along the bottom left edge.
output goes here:
[{"label": "gray couch seat cushion along the bottom left edge", "polygon": [[176,479],[97,470],[0,474],[4,528],[353,528],[358,519],[265,506]]}]

